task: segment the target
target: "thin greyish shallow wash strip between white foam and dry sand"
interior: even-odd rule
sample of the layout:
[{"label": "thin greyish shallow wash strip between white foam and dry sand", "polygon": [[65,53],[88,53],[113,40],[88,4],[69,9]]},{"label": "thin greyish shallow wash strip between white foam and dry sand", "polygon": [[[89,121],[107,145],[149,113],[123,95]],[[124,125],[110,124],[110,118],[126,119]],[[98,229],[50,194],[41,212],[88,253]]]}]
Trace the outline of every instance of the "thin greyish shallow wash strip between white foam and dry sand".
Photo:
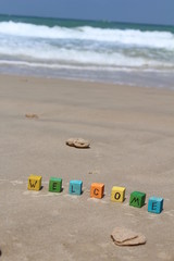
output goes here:
[{"label": "thin greyish shallow wash strip between white foam and dry sand", "polygon": [[[39,71],[40,70],[40,71]],[[171,89],[174,90],[174,78],[172,72],[160,71],[94,71],[75,69],[37,69],[23,67],[0,70],[0,75],[12,75],[16,77],[36,77],[50,79],[64,79],[77,82],[90,82],[100,84],[113,84],[119,86]],[[9,71],[9,72],[8,72]],[[25,72],[25,73],[24,73]]]}]

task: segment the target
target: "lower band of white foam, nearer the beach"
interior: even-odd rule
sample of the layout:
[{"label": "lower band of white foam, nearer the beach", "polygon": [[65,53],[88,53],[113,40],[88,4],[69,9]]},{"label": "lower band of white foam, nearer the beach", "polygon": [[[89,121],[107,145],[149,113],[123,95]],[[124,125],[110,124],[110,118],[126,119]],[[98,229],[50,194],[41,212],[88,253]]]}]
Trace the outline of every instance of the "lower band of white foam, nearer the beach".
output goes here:
[{"label": "lower band of white foam, nearer the beach", "polygon": [[[1,61],[5,61],[7,63],[15,62],[16,60],[20,62],[25,62],[26,64],[30,64],[34,66],[48,66],[48,67],[60,67],[63,65],[70,66],[82,66],[91,67],[91,66],[100,66],[109,70],[117,67],[171,67],[174,65],[164,61],[156,61],[153,59],[147,59],[142,57],[137,57],[133,59],[130,57],[126,57],[123,53],[98,53],[92,50],[73,50],[60,48],[59,51],[57,49],[50,49],[49,46],[18,46],[17,48],[12,48],[12,46],[0,47],[0,53],[5,53],[5,55],[11,59],[1,59]],[[22,64],[22,63],[21,63]]]}]

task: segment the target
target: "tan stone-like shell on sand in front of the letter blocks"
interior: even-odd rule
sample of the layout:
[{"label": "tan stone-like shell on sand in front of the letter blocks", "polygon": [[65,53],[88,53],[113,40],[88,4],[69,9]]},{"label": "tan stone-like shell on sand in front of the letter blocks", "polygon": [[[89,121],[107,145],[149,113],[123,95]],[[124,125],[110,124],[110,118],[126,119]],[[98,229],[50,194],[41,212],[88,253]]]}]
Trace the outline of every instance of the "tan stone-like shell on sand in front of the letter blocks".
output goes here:
[{"label": "tan stone-like shell on sand in front of the letter blocks", "polygon": [[146,244],[146,237],[142,234],[125,227],[115,227],[111,234],[111,238],[117,246],[137,246]]}]

